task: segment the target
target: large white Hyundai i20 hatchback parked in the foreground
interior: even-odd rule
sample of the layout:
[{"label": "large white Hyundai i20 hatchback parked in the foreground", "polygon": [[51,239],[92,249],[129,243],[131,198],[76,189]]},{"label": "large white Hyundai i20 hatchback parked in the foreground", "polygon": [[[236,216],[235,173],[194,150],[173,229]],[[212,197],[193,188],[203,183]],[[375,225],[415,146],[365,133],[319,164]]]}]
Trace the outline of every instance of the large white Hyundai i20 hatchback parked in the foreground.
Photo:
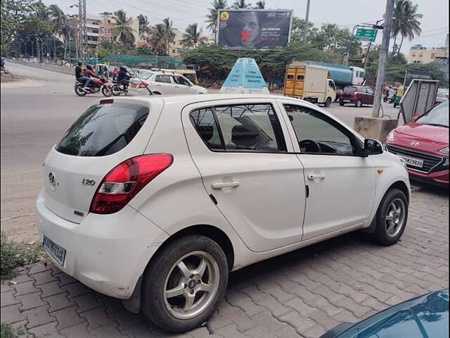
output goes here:
[{"label": "large white Hyundai i20 hatchback parked in the foreground", "polygon": [[228,274],[362,230],[396,243],[404,163],[284,96],[101,99],[53,146],[37,199],[53,262],[165,330],[204,323]]}]

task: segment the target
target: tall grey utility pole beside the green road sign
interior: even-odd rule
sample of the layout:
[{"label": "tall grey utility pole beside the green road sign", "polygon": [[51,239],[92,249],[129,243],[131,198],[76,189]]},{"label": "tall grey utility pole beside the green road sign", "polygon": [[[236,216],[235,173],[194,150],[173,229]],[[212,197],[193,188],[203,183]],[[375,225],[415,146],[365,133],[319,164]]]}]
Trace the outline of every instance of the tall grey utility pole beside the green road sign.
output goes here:
[{"label": "tall grey utility pole beside the green road sign", "polygon": [[386,1],[385,24],[383,25],[383,41],[381,42],[380,56],[378,58],[377,82],[375,84],[375,98],[373,99],[372,117],[380,117],[381,92],[385,80],[387,53],[392,28],[392,17],[394,15],[394,0]]}]

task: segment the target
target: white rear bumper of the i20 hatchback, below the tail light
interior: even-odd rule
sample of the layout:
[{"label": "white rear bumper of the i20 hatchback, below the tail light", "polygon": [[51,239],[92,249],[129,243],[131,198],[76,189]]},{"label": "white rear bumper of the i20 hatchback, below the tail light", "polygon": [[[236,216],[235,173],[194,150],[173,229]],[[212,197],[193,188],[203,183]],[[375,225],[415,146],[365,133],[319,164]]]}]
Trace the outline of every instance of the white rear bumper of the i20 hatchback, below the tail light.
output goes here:
[{"label": "white rear bumper of the i20 hatchback, below the tail light", "polygon": [[[66,250],[64,265],[52,261],[86,286],[128,299],[148,261],[168,235],[130,206],[111,215],[89,213],[82,223],[60,218],[37,199],[39,236]],[[50,256],[50,255],[49,255]]]}]

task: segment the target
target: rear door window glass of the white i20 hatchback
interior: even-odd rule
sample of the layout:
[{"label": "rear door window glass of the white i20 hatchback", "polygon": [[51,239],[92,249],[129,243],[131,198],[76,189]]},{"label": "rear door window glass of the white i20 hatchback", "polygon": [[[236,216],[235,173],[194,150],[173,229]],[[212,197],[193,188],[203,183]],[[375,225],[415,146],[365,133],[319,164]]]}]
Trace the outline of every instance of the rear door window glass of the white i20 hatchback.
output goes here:
[{"label": "rear door window glass of the white i20 hatchback", "polygon": [[[198,111],[211,111],[214,123],[218,125],[221,147],[210,146],[207,137],[199,130],[195,120]],[[210,149],[226,151],[286,151],[280,122],[271,104],[243,104],[215,106],[195,110],[191,120],[200,137]]]}]

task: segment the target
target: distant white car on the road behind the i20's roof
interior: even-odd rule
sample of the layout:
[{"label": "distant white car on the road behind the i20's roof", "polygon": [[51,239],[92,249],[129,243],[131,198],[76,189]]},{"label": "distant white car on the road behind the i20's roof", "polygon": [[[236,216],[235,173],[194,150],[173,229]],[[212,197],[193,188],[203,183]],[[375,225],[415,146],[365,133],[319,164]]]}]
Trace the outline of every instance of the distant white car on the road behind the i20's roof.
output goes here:
[{"label": "distant white car on the road behind the i20's roof", "polygon": [[[207,90],[193,84],[183,75],[139,70],[139,78],[131,77],[129,92],[148,95],[148,87],[153,94],[207,94]],[[142,80],[142,81],[141,81]]]}]

